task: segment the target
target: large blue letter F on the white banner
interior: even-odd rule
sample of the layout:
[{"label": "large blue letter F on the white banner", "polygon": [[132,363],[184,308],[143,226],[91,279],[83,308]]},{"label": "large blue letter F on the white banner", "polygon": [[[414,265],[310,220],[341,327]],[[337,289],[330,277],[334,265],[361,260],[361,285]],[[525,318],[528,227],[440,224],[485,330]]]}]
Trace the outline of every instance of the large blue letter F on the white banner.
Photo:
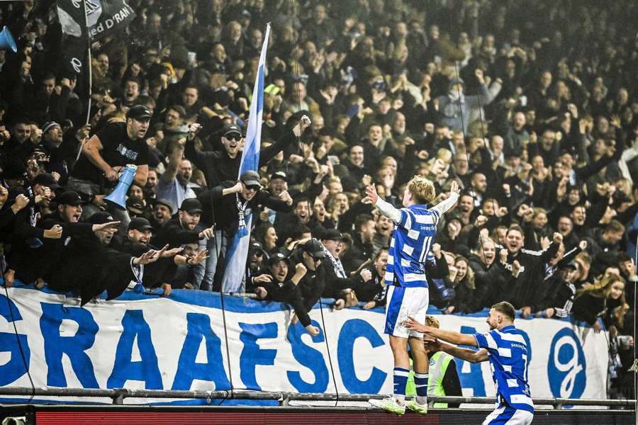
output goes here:
[{"label": "large blue letter F on the white banner", "polygon": [[244,343],[244,349],[240,355],[240,378],[247,390],[261,391],[262,387],[257,383],[255,366],[274,365],[276,350],[264,350],[259,348],[257,339],[276,338],[277,324],[275,322],[266,324],[239,323],[242,333],[240,341]]}]

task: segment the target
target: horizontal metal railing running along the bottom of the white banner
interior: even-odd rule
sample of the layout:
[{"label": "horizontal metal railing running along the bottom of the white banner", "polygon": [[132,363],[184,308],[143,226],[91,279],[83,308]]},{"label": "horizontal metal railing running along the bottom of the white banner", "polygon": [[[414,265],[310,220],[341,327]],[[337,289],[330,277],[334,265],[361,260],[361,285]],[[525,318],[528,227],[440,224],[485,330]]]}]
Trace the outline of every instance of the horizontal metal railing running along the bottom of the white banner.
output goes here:
[{"label": "horizontal metal railing running along the bottom of the white banner", "polygon": [[[0,395],[25,397],[101,397],[113,400],[113,404],[124,404],[126,398],[138,399],[252,399],[276,400],[281,406],[289,402],[367,402],[369,399],[386,397],[379,394],[335,394],[335,393],[306,393],[306,392],[268,392],[268,391],[173,391],[173,390],[128,390],[116,388],[112,390],[91,388],[30,388],[30,387],[0,387]],[[464,404],[493,404],[494,397],[437,397],[428,396],[428,402],[464,403]],[[610,407],[615,409],[633,410],[636,405],[634,399],[563,399],[563,398],[535,398],[536,406],[552,406],[561,409],[564,406],[592,406]]]}]

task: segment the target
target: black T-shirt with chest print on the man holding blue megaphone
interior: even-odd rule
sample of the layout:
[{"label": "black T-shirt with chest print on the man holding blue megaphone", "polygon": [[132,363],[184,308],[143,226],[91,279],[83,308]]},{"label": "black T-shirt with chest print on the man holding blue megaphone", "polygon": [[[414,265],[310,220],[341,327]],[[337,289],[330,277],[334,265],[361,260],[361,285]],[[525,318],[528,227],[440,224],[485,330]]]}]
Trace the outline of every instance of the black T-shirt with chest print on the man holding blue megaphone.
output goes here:
[{"label": "black T-shirt with chest print on the man holding blue megaphone", "polygon": [[[126,123],[111,123],[96,133],[102,142],[100,154],[106,164],[116,167],[126,164],[147,165],[149,152],[145,140],[130,140],[126,133]],[[103,172],[82,155],[75,164],[72,176],[100,184]]]}]

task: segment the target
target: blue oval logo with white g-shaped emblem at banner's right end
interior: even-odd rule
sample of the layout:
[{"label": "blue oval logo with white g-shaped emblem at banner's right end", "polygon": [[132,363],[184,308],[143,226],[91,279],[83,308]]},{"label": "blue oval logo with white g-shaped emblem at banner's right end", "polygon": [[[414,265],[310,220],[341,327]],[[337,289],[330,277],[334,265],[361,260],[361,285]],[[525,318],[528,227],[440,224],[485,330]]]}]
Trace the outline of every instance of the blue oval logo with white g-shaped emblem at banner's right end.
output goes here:
[{"label": "blue oval logo with white g-shaped emblem at banner's right end", "polygon": [[549,389],[554,397],[580,398],[587,385],[586,369],[578,336],[570,328],[556,332],[547,359]]}]

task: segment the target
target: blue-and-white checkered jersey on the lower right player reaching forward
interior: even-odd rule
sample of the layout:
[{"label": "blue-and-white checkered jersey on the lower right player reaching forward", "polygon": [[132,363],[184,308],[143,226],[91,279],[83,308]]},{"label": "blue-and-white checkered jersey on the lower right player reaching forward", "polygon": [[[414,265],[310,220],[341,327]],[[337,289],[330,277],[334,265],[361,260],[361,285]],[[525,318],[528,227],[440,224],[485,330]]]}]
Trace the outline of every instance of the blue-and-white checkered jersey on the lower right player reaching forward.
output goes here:
[{"label": "blue-and-white checkered jersey on the lower right player reaching forward", "polygon": [[485,334],[474,334],[478,348],[488,351],[492,378],[496,385],[496,404],[502,398],[515,409],[534,412],[534,403],[527,383],[529,357],[527,343],[513,324],[503,329],[492,329]]}]

